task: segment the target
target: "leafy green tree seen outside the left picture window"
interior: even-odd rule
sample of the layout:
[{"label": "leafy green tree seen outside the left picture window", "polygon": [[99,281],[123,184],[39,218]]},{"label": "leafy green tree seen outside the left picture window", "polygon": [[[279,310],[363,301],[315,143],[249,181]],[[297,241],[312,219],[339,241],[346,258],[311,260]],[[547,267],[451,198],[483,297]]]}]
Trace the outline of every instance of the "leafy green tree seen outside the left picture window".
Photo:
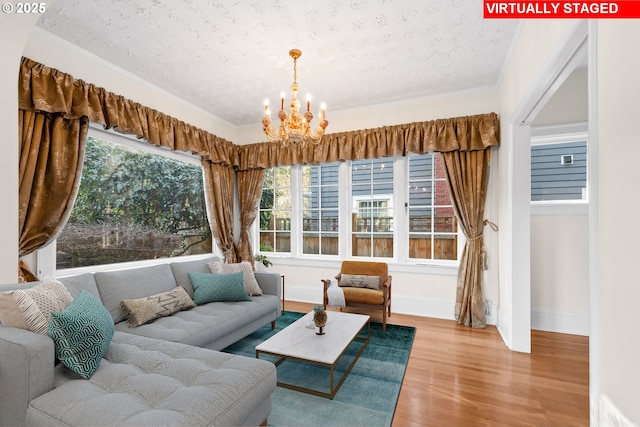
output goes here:
[{"label": "leafy green tree seen outside the left picture window", "polygon": [[113,223],[177,232],[203,223],[198,166],[87,139],[82,181],[70,223]]}]

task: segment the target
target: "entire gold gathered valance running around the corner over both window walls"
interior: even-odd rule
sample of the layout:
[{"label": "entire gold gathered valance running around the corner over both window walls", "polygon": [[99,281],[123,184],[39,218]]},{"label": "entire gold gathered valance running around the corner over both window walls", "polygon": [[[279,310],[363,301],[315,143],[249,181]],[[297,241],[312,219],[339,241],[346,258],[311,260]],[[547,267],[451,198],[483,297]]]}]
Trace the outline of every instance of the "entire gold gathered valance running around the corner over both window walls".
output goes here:
[{"label": "entire gold gathered valance running around the corner over both window walls", "polygon": [[88,117],[106,129],[136,135],[172,150],[190,151],[216,164],[245,171],[274,166],[371,159],[408,152],[476,151],[498,145],[495,113],[327,134],[319,144],[264,142],[234,145],[205,130],[22,58],[19,108]]}]

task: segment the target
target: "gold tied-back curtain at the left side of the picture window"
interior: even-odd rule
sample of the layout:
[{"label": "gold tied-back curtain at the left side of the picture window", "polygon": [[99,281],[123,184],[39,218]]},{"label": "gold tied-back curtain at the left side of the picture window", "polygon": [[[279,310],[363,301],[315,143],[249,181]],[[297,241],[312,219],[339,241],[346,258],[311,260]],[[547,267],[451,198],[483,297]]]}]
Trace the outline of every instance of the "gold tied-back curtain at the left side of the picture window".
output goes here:
[{"label": "gold tied-back curtain at the left side of the picture window", "polygon": [[[64,228],[80,185],[86,117],[18,111],[20,256],[49,244]],[[19,276],[34,278],[24,263]]]}]

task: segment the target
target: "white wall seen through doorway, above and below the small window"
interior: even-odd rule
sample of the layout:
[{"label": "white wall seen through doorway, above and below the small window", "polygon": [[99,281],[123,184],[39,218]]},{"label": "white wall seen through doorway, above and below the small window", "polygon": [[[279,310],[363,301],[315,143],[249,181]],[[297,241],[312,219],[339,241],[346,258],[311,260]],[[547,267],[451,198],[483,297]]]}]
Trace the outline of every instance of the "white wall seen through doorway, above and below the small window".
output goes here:
[{"label": "white wall seen through doorway, above and below the small window", "polygon": [[[586,132],[587,78],[586,68],[573,71],[533,120],[532,133]],[[531,214],[531,327],[589,335],[588,206],[532,205]]]}]

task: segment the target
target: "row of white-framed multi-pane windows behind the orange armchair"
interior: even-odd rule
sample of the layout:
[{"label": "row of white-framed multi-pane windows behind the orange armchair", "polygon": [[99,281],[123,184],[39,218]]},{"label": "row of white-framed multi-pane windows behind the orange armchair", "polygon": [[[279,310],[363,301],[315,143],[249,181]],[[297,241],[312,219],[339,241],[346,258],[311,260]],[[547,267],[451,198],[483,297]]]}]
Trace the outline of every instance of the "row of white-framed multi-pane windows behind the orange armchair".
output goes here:
[{"label": "row of white-framed multi-pane windows behind the orange armchair", "polygon": [[455,266],[464,243],[439,154],[267,170],[255,232],[260,252],[408,264]]}]

